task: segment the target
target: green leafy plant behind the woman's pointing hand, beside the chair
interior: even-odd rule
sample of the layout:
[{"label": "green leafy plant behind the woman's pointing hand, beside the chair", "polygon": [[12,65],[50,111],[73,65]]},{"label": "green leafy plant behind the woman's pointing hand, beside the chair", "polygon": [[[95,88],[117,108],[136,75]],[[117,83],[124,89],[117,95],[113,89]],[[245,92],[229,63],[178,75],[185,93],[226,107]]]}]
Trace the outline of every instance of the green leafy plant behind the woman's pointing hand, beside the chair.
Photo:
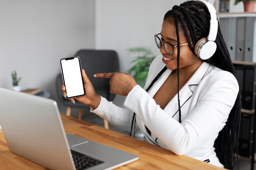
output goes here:
[{"label": "green leafy plant behind the woman's pointing hand, beside the chair", "polygon": [[133,47],[128,49],[130,53],[134,53],[137,57],[132,60],[134,65],[128,70],[137,84],[144,87],[146,78],[148,76],[148,69],[151,62],[155,59],[150,49],[144,47]]}]

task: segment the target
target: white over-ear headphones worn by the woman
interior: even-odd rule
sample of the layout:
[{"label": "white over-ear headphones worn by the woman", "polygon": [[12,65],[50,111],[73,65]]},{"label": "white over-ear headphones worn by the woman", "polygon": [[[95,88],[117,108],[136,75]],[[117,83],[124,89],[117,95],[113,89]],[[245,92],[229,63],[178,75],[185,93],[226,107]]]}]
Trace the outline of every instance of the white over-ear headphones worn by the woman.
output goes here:
[{"label": "white over-ear headphones worn by the woman", "polygon": [[215,53],[217,49],[217,45],[214,42],[216,40],[217,32],[218,32],[218,20],[216,16],[216,9],[210,2],[206,2],[203,0],[196,0],[204,6],[206,6],[209,10],[211,20],[210,20],[210,30],[207,38],[200,39],[195,44],[195,54],[200,57],[202,60],[207,60]]}]

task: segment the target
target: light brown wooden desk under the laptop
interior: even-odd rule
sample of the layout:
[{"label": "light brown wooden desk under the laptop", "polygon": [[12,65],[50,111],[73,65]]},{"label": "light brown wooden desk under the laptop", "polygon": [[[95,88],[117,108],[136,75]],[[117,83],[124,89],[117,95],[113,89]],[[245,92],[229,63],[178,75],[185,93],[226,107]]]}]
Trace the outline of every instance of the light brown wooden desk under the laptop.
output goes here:
[{"label": "light brown wooden desk under the laptop", "polygon": [[[116,170],[224,170],[187,156],[177,156],[170,150],[67,115],[61,114],[61,118],[66,133],[86,137],[139,156],[139,160]],[[2,130],[0,130],[0,167],[4,170],[45,169],[10,152]]]}]

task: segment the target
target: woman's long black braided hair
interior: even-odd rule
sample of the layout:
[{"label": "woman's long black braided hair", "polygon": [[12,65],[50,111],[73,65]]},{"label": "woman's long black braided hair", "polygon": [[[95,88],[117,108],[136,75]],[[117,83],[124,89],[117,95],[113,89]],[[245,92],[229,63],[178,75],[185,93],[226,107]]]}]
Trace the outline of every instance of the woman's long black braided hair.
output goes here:
[{"label": "woman's long black braided hair", "polygon": [[[175,22],[176,34],[177,34],[177,74],[179,77],[179,57],[180,57],[180,32],[183,32],[186,36],[191,51],[194,52],[193,44],[196,44],[201,38],[207,37],[209,33],[209,20],[210,14],[202,3],[196,1],[187,1],[180,6],[175,5],[173,9],[168,11],[164,16],[164,21],[169,21],[172,24]],[[192,42],[192,44],[191,44]],[[215,40],[217,44],[216,53],[205,62],[209,62],[221,68],[222,70],[229,71],[236,79],[236,70],[232,64],[227,45],[223,39],[220,26],[218,25],[218,33]],[[179,79],[178,79],[179,84]],[[177,89],[179,95],[179,88]],[[180,106],[179,106],[180,108]],[[179,115],[180,109],[179,109]],[[220,163],[222,163],[227,169],[234,169],[235,153],[238,151],[238,134],[241,117],[241,95],[240,91],[236,98],[236,102],[229,114],[226,125],[219,132],[219,135],[214,143],[215,152],[217,154]]]}]

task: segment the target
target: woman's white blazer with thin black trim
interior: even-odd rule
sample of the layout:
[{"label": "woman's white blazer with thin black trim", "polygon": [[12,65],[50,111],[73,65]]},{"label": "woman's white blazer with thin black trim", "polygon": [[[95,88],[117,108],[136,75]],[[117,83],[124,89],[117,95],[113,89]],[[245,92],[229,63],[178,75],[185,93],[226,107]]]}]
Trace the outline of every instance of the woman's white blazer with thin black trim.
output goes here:
[{"label": "woman's white blazer with thin black trim", "polygon": [[[164,66],[162,56],[156,57],[150,65],[145,89]],[[126,108],[120,108],[101,97],[98,108],[91,109],[91,112],[127,131],[131,128],[132,115],[136,113],[136,126],[149,143],[167,148],[177,155],[209,160],[209,163],[223,167],[216,157],[213,144],[236,101],[239,91],[236,78],[203,62],[180,90],[182,122],[179,123],[177,94],[164,109],[153,99],[171,72],[167,69],[148,93],[139,85],[135,86],[126,97]]]}]

